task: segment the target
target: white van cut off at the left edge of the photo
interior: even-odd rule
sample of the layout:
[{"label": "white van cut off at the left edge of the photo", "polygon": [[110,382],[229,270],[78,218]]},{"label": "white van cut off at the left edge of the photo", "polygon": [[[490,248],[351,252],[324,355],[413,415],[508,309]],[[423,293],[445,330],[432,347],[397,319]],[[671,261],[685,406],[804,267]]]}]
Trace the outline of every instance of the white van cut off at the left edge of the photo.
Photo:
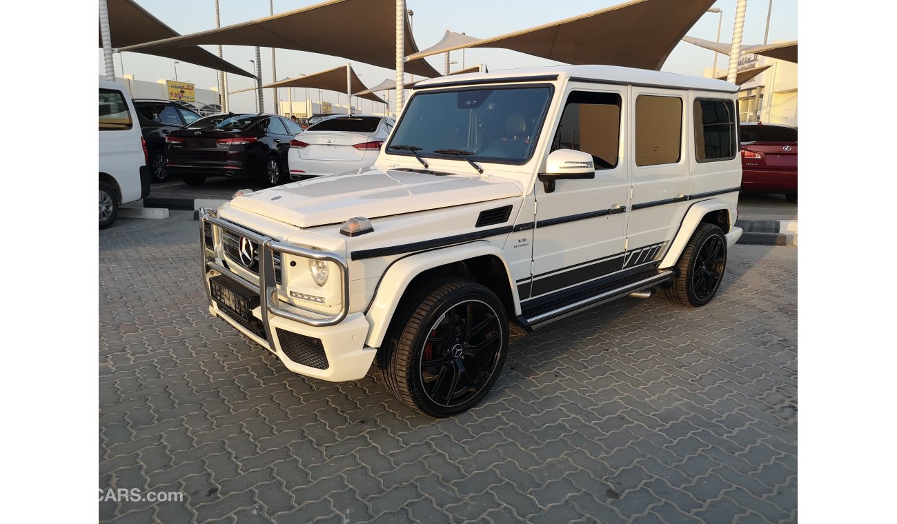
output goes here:
[{"label": "white van cut off at the left edge of the photo", "polygon": [[100,82],[100,228],[109,228],[118,206],[150,194],[146,146],[134,104],[124,86]]}]

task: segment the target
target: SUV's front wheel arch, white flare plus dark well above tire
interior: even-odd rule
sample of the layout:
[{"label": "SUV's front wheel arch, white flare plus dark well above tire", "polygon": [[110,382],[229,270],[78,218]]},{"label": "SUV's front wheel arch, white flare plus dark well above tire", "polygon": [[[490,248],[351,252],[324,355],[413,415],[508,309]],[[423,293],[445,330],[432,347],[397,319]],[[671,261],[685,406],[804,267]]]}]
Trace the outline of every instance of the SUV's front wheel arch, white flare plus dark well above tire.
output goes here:
[{"label": "SUV's front wheel arch, white flare plus dark well above tire", "polygon": [[406,256],[388,268],[365,313],[371,326],[366,345],[379,348],[401,301],[418,283],[440,275],[475,280],[492,289],[509,316],[520,314],[517,287],[510,279],[501,249],[484,241],[455,245]]}]

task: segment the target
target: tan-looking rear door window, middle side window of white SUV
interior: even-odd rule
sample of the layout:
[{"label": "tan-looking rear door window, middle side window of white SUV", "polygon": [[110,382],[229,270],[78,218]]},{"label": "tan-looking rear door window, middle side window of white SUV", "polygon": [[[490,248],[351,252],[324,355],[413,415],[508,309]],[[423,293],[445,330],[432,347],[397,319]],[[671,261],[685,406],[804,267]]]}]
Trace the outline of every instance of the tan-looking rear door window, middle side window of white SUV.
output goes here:
[{"label": "tan-looking rear door window, middle side window of white SUV", "polygon": [[640,95],[635,100],[635,165],[675,164],[682,158],[682,99]]}]

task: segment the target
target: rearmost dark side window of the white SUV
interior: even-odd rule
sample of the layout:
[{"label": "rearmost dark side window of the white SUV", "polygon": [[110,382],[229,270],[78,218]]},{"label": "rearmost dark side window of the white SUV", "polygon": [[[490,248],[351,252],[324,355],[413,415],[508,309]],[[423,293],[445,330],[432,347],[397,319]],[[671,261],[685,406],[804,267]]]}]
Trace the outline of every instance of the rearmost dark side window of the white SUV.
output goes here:
[{"label": "rearmost dark side window of the white SUV", "polygon": [[694,101],[694,155],[699,162],[734,159],[736,114],[729,100]]}]

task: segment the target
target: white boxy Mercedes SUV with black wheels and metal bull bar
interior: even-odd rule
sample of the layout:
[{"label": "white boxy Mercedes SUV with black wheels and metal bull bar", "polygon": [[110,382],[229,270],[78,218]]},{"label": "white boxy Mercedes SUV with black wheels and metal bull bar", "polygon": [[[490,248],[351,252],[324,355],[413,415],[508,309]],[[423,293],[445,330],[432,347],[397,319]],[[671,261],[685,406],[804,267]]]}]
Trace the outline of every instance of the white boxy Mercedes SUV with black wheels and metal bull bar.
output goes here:
[{"label": "white boxy Mercedes SUV with black wheels and metal bull bar", "polygon": [[736,86],[603,65],[419,82],[370,168],[201,210],[209,311],[293,372],[422,413],[475,405],[527,331],[662,288],[717,293]]}]

